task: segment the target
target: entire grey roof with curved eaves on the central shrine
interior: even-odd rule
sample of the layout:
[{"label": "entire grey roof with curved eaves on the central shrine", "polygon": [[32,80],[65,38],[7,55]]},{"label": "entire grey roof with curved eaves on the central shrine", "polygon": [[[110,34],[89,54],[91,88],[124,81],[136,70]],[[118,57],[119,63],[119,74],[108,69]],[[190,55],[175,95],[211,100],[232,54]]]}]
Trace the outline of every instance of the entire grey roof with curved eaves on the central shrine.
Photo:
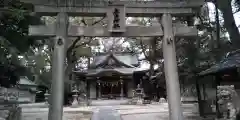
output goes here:
[{"label": "entire grey roof with curved eaves on the central shrine", "polygon": [[76,74],[90,77],[99,76],[131,76],[134,72],[148,71],[138,68],[139,61],[136,54],[132,53],[105,53],[98,54],[90,68],[86,71],[74,71]]}]

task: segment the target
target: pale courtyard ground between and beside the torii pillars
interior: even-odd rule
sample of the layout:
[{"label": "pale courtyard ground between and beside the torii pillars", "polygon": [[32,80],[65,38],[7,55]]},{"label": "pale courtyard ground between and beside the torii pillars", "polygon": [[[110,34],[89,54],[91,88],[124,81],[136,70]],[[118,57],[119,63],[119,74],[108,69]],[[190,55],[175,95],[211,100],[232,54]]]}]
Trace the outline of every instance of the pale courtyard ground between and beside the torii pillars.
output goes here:
[{"label": "pale courtyard ground between and beside the torii pillars", "polygon": [[[105,101],[108,102],[108,101]],[[28,107],[27,107],[28,106]],[[48,108],[27,105],[22,120],[48,120]],[[183,104],[185,120],[198,120],[197,104]],[[98,106],[64,108],[63,120],[168,120],[168,104],[119,105],[104,103]]]}]

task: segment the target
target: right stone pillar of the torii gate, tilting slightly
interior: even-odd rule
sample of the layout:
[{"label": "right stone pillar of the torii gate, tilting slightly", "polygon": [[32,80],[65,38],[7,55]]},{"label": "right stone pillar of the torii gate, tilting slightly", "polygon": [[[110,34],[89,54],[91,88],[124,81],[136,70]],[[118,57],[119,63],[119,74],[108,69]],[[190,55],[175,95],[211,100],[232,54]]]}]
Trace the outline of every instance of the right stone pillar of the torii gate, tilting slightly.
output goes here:
[{"label": "right stone pillar of the torii gate, tilting slightly", "polygon": [[183,120],[173,23],[172,16],[170,14],[163,14],[162,25],[164,29],[163,57],[168,96],[169,120]]}]

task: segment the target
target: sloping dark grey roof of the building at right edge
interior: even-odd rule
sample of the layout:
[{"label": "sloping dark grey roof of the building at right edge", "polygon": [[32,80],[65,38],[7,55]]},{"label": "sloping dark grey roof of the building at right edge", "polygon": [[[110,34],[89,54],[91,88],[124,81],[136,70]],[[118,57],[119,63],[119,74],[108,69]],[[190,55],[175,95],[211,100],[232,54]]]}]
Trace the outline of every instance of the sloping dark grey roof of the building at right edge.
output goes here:
[{"label": "sloping dark grey roof of the building at right edge", "polygon": [[230,52],[226,57],[219,63],[213,65],[209,69],[199,73],[200,76],[214,74],[226,69],[238,68],[240,67],[240,49]]}]

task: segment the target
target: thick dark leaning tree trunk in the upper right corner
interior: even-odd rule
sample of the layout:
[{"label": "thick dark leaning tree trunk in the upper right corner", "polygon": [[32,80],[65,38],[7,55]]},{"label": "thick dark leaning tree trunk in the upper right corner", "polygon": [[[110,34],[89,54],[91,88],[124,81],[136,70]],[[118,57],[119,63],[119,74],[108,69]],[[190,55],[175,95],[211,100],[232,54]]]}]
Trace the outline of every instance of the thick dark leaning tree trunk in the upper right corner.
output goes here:
[{"label": "thick dark leaning tree trunk in the upper right corner", "polygon": [[223,14],[224,26],[229,33],[232,45],[237,49],[240,48],[240,34],[233,16],[231,1],[232,0],[218,0],[217,3]]}]

